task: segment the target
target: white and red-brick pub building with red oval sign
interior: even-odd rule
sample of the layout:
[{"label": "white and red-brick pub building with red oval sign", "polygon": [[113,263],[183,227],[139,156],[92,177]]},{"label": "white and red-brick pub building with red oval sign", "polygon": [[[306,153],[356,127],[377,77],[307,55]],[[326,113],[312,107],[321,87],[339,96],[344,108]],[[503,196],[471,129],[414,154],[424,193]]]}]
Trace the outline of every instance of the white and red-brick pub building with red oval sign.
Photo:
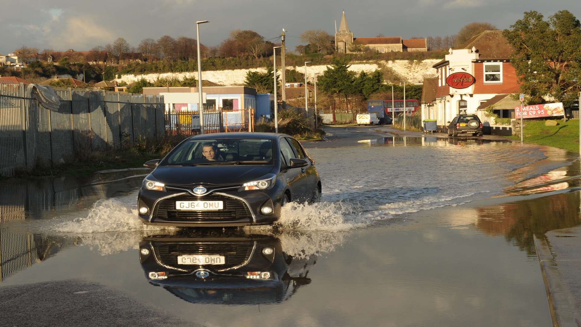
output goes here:
[{"label": "white and red-brick pub building with red oval sign", "polygon": [[[482,105],[497,95],[519,92],[518,76],[510,63],[514,49],[502,33],[483,31],[464,47],[450,49],[433,65],[437,72],[436,97],[432,105],[422,106],[422,119],[437,119],[439,131],[444,132],[460,112],[478,115],[484,126],[494,125],[494,120],[483,114]],[[428,110],[431,107],[432,111]],[[500,115],[512,115],[508,108],[496,110]]]}]

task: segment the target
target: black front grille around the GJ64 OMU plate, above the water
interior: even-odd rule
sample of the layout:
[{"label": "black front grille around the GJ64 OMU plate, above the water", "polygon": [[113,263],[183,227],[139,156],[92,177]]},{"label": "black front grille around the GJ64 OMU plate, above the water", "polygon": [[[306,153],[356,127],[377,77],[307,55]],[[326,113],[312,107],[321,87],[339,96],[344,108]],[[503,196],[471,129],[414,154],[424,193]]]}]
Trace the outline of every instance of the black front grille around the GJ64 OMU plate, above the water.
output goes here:
[{"label": "black front grille around the GJ64 OMU plate, above the water", "polygon": [[[190,211],[175,209],[175,201],[223,201],[224,209],[217,211]],[[153,221],[163,219],[170,222],[223,222],[252,220],[250,209],[244,201],[236,198],[211,194],[205,197],[194,197],[190,194],[167,198],[157,202],[153,209]]]}]

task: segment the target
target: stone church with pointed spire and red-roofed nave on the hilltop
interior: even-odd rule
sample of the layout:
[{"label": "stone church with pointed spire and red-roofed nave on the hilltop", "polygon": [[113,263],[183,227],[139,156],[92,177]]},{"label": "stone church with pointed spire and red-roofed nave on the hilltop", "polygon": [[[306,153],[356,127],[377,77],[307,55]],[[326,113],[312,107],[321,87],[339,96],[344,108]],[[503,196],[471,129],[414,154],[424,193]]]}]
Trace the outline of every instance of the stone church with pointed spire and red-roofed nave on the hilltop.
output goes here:
[{"label": "stone church with pointed spire and red-roofed nave on the hilltop", "polygon": [[349,30],[345,10],[341,16],[339,30],[335,33],[335,51],[352,54],[368,50],[377,52],[428,51],[425,38],[402,40],[401,37],[353,37]]}]

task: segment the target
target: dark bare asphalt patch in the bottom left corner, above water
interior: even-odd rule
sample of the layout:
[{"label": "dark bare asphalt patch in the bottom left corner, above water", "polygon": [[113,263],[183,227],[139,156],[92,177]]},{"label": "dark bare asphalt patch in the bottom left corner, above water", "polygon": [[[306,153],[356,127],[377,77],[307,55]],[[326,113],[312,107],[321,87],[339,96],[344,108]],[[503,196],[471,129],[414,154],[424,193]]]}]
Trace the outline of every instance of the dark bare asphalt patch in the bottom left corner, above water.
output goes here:
[{"label": "dark bare asphalt patch in the bottom left corner, above water", "polygon": [[77,279],[0,287],[0,312],[3,327],[200,326],[119,290]]}]

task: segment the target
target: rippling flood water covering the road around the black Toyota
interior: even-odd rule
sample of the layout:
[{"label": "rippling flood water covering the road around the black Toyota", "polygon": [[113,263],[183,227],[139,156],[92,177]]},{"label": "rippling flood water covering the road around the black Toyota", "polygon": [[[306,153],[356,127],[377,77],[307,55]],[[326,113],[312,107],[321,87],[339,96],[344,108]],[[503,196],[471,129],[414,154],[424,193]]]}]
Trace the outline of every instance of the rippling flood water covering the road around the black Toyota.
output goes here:
[{"label": "rippling flood water covering the road around the black Toyota", "polygon": [[[322,202],[288,205],[275,229],[143,226],[143,177],[119,172],[84,186],[0,186],[0,296],[4,286],[82,279],[207,326],[551,324],[532,237],[581,223],[571,154],[435,137],[326,145],[307,148]],[[154,256],[171,266],[164,258],[176,251],[252,257],[265,247],[272,279],[148,278]]]}]

